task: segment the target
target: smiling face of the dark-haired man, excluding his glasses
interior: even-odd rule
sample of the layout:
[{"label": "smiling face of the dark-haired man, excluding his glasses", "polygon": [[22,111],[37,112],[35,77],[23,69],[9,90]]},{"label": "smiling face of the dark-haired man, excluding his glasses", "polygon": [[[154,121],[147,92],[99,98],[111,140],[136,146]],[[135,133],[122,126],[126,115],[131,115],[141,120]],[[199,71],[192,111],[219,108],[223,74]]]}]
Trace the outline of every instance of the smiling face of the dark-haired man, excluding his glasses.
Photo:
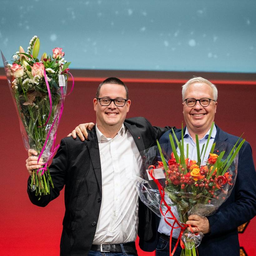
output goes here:
[{"label": "smiling face of the dark-haired man, excluding his glasses", "polygon": [[[103,84],[100,89],[99,98],[126,99],[125,87],[119,84]],[[94,110],[96,111],[97,127],[103,130],[119,130],[129,112],[130,100],[126,101],[125,106],[117,107],[112,101],[109,106],[101,106],[100,102],[93,99]]]}]

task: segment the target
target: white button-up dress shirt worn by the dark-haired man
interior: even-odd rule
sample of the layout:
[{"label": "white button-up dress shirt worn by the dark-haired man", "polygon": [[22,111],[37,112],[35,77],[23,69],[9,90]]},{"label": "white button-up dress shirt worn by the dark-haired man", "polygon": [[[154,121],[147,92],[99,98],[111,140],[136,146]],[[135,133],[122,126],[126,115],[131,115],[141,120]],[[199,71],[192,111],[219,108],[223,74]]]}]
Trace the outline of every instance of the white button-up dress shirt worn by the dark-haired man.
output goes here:
[{"label": "white button-up dress shirt worn by the dark-haired man", "polygon": [[122,125],[117,135],[106,138],[96,125],[102,179],[102,201],[93,244],[135,241],[138,230],[139,150]]}]

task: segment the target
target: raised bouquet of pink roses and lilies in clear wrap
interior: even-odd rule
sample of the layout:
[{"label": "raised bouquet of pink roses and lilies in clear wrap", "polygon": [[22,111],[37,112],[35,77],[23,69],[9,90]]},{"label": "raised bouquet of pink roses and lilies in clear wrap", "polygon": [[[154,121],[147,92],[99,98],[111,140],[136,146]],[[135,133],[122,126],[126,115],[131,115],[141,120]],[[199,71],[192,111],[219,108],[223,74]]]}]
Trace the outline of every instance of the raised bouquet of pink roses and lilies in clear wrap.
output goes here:
[{"label": "raised bouquet of pink roses and lilies in clear wrap", "polygon": [[[45,163],[33,171],[31,186],[40,196],[50,193],[52,179],[47,166],[57,147],[56,131],[63,111],[69,64],[62,48],[54,48],[52,56],[43,53],[37,59],[40,41],[32,37],[27,52],[20,46],[9,64],[3,54],[4,69],[19,117],[20,130],[26,150],[40,152]],[[74,82],[73,82],[74,84]],[[73,88],[73,86],[72,86]]]}]

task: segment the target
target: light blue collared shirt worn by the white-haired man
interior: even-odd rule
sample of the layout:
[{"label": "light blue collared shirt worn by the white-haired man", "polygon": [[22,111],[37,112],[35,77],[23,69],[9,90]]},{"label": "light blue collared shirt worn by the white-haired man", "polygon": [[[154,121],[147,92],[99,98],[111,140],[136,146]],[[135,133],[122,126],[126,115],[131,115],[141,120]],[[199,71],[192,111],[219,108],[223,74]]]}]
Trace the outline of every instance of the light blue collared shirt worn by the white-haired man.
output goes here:
[{"label": "light blue collared shirt worn by the white-haired man", "polygon": [[[201,153],[201,150],[202,150],[202,147],[203,147],[204,144],[205,144],[204,145],[204,150],[205,150],[205,146],[206,146],[207,139],[209,137],[209,133],[210,133],[210,129],[204,135],[204,137],[199,140],[200,153]],[[206,149],[205,155],[204,155],[204,151],[201,155],[201,158],[203,158],[203,155],[204,155],[204,159],[201,159],[201,165],[205,165],[206,160],[208,159],[210,150],[211,150],[212,145],[214,143],[216,133],[217,133],[217,130],[216,130],[216,127],[214,125],[213,130],[212,130],[212,134],[211,134],[211,138],[209,140],[209,144],[208,144],[208,147]],[[186,155],[187,155],[187,144],[189,144],[189,154],[188,154],[189,157],[188,158],[191,159],[191,160],[196,160],[197,161],[196,143],[194,142],[194,140],[190,136],[190,133],[189,133],[188,129],[186,128],[185,134],[184,134],[184,155],[185,155],[185,158],[186,158]],[[178,155],[180,155],[179,148],[177,148],[177,153],[178,153]],[[169,202],[166,201],[166,202],[167,202],[167,204],[171,203],[171,201],[169,201]],[[171,209],[172,209],[172,212],[174,213],[175,217],[177,218],[178,214],[177,214],[176,206],[172,206]],[[173,223],[173,220],[169,220],[169,223]],[[171,231],[171,227],[167,223],[165,223],[165,220],[163,218],[161,218],[159,226],[158,226],[158,232],[161,233],[161,234],[165,234],[165,235],[170,236],[170,231]],[[177,239],[179,234],[180,234],[180,228],[173,229],[173,234],[172,234],[173,238]]]}]

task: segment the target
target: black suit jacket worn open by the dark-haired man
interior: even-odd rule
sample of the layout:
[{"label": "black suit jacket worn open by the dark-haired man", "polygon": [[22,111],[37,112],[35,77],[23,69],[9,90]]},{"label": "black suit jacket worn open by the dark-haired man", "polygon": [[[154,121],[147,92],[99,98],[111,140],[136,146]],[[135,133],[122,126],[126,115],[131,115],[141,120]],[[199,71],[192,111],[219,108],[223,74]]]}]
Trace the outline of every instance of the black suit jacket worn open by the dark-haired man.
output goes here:
[{"label": "black suit jacket worn open by the dark-haired man", "polygon": [[[124,125],[133,136],[139,151],[155,145],[156,139],[170,128],[153,127],[143,117],[127,119]],[[50,173],[54,184],[51,193],[38,200],[28,187],[29,198],[33,204],[44,207],[60,194],[65,185],[66,211],[60,244],[61,255],[87,255],[96,232],[102,198],[96,130],[88,133],[86,141],[71,137],[62,139],[50,166]],[[154,218],[155,215],[140,202],[138,235],[141,240],[148,240],[153,236],[151,223],[155,224]]]}]

